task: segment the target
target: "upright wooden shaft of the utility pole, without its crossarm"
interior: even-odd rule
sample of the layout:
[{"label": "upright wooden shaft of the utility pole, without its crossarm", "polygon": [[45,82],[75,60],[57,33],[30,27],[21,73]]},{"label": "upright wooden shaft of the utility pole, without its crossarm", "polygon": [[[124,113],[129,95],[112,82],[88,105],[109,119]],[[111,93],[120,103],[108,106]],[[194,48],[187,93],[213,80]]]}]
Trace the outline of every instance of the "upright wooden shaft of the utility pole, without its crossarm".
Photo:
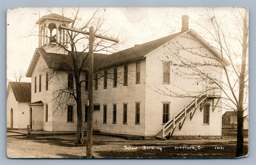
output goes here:
[{"label": "upright wooden shaft of the utility pole, without its crossarm", "polygon": [[92,158],[92,120],[93,120],[93,43],[94,29],[91,26],[89,31],[89,74],[88,74],[88,122],[86,139],[86,157]]}]

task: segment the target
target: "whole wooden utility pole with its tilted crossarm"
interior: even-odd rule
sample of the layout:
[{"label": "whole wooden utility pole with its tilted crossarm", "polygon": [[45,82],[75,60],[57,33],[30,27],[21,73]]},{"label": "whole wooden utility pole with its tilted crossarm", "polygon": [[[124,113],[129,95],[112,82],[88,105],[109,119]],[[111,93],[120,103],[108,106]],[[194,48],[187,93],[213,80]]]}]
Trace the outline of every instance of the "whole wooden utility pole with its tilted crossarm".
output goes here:
[{"label": "whole wooden utility pole with its tilted crossarm", "polygon": [[86,157],[92,158],[92,120],[93,120],[93,44],[94,44],[94,37],[106,39],[109,41],[113,41],[118,43],[118,39],[110,38],[107,36],[94,34],[94,28],[93,26],[90,27],[89,32],[81,31],[73,28],[69,28],[66,26],[60,26],[61,29],[77,32],[77,33],[83,33],[89,35],[89,73],[88,73],[88,100],[89,100],[89,107],[88,107],[88,121],[87,121],[87,130],[86,130]]}]

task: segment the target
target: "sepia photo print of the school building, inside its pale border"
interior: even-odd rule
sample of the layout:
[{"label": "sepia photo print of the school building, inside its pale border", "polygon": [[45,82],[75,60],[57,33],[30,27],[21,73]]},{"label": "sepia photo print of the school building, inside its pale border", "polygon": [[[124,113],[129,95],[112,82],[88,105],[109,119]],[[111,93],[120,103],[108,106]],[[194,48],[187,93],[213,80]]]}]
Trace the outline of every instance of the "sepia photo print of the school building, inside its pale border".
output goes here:
[{"label": "sepia photo print of the school building, inside its pale border", "polygon": [[245,7],[7,10],[9,158],[248,156]]}]

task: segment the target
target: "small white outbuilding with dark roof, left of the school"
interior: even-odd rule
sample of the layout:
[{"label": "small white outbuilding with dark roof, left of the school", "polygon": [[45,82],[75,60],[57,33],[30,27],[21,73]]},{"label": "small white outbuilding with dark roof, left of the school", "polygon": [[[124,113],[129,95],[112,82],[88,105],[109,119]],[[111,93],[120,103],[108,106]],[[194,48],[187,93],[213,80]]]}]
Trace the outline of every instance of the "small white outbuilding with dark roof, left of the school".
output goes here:
[{"label": "small white outbuilding with dark roof, left of the school", "polygon": [[6,99],[7,128],[25,129],[30,119],[31,83],[9,82]]}]

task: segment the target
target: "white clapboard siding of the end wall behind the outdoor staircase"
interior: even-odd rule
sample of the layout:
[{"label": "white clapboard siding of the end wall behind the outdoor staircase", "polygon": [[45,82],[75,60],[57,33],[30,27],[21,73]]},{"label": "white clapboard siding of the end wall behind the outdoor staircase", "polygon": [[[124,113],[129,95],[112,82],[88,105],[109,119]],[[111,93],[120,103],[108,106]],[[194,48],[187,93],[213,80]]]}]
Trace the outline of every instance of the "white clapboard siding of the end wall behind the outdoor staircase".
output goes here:
[{"label": "white clapboard siding of the end wall behind the outdoor staircase", "polygon": [[[179,43],[182,43],[184,47],[189,47],[191,45],[195,47],[202,46],[201,43],[188,39],[190,37],[193,36],[186,34],[186,36],[180,37],[177,40]],[[203,88],[203,84],[196,82],[196,80],[189,80],[176,75],[176,70],[173,66],[171,66],[171,70],[173,69],[174,72],[170,72],[170,84],[163,84],[163,62],[170,61],[170,58],[166,56],[171,56],[171,53],[173,53],[169,51],[168,48],[175,50],[176,47],[170,43],[165,47],[158,48],[150,55],[146,56],[146,123],[150,123],[146,124],[147,136],[156,135],[162,129],[163,102],[170,102],[170,119],[172,119],[173,115],[177,114],[190,100],[193,99],[170,97],[171,92],[168,91],[168,89],[177,93],[186,93],[201,90]],[[207,48],[202,48],[202,51],[214,57]],[[201,60],[200,57],[196,57],[196,55],[193,55],[186,50],[181,49],[179,53],[189,60]],[[206,67],[206,69],[212,68]],[[216,74],[219,77],[222,76],[221,70],[217,70],[216,73],[213,72],[212,74]],[[182,130],[178,130],[179,129],[176,128],[174,135],[220,135],[221,109],[216,108],[214,112],[210,110],[209,125],[203,124],[203,111],[200,112],[200,110],[196,110],[192,121],[186,119]]]}]

